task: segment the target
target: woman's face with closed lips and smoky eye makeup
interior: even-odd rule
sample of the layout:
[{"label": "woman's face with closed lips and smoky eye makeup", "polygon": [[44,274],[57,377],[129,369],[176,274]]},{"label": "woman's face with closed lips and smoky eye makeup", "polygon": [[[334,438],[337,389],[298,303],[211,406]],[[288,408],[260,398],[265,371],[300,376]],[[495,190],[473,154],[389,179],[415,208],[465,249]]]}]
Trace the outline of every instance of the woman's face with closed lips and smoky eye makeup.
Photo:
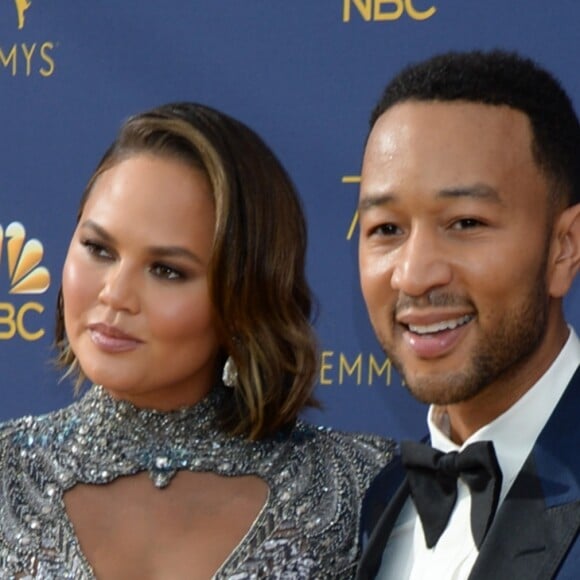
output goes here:
[{"label": "woman's face with closed lips and smoky eye makeup", "polygon": [[183,161],[138,154],[96,180],[64,265],[64,320],[83,372],[115,398],[168,410],[210,390],[214,227],[208,179]]}]

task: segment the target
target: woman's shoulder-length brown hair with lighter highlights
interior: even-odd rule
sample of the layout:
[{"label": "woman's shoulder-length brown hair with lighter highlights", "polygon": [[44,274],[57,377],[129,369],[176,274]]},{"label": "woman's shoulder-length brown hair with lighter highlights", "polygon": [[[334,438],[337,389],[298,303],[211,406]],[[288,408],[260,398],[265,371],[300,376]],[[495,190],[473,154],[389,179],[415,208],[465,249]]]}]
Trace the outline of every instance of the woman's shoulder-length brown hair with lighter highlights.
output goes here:
[{"label": "woman's shoulder-length brown hair with lighter highlights", "polygon": [[[83,193],[79,218],[96,179],[138,154],[202,169],[213,190],[209,287],[222,344],[216,383],[227,356],[238,369],[238,385],[228,389],[220,409],[224,428],[259,439],[292,425],[304,407],[317,406],[317,355],[305,277],[306,223],[290,177],[243,123],[204,105],[169,104],[123,124]],[[57,363],[79,385],[85,377],[66,338],[62,293],[56,346]]]}]

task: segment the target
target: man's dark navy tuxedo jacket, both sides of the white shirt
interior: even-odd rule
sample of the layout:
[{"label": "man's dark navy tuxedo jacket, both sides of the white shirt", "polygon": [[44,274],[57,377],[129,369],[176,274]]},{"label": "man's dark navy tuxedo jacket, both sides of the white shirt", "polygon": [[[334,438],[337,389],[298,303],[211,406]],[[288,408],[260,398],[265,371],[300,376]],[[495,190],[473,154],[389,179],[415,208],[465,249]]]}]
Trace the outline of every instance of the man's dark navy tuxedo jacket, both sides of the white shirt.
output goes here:
[{"label": "man's dark navy tuxedo jacket, both sides of the white shirt", "polygon": [[[364,551],[357,580],[375,578],[408,497],[405,472],[397,457],[379,473],[364,500]],[[579,580],[579,530],[580,369],[496,514],[469,578]]]}]

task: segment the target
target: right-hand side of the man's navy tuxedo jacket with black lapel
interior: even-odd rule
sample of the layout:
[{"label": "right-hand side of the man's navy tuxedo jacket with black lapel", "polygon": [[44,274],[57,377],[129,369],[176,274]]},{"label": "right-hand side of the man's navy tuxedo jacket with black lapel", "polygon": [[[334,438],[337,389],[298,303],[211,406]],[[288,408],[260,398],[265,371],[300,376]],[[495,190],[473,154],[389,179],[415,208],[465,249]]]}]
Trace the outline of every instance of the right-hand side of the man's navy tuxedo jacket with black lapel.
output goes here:
[{"label": "right-hand side of the man's navy tuxedo jacket with black lapel", "polygon": [[470,580],[555,577],[580,530],[579,409],[577,371],[501,506]]}]

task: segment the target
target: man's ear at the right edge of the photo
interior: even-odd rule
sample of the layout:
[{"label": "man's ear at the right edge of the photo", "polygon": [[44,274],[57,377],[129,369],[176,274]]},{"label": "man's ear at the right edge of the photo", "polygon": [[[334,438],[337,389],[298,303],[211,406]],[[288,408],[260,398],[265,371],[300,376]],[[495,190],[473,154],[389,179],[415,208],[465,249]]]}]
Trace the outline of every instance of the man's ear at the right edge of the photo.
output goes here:
[{"label": "man's ear at the right edge of the photo", "polygon": [[566,208],[554,223],[548,265],[548,291],[562,298],[580,268],[580,203]]}]

